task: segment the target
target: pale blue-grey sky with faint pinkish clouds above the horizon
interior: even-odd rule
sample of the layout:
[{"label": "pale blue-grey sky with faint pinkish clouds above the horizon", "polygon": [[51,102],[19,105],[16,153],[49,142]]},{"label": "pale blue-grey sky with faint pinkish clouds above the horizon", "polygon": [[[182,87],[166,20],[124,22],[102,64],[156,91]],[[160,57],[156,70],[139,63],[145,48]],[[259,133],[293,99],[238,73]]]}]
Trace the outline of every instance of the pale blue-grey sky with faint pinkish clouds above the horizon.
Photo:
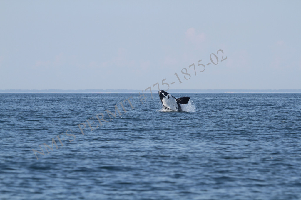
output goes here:
[{"label": "pale blue-grey sky with faint pinkish clouds above the horizon", "polygon": [[301,89],[300,8],[0,0],[0,89]]}]

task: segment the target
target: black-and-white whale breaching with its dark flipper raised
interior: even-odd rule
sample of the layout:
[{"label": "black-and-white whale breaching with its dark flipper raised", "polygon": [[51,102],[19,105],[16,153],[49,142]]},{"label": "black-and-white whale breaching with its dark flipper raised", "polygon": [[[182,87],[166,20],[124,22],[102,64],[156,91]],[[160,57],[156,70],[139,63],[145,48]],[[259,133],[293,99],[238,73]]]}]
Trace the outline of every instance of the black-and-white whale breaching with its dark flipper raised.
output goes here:
[{"label": "black-and-white whale breaching with its dark flipper raised", "polygon": [[159,97],[163,104],[163,108],[172,111],[182,111],[181,106],[188,104],[190,97],[175,98],[164,90],[159,91]]}]

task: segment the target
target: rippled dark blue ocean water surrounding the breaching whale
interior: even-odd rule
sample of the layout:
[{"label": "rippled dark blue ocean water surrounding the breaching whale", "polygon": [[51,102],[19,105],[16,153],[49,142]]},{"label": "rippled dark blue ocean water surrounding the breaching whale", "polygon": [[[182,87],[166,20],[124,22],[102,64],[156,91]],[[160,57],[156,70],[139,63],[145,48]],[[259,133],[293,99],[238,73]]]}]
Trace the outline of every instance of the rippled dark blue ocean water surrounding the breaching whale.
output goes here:
[{"label": "rippled dark blue ocean water surrounding the breaching whale", "polygon": [[301,199],[300,93],[172,95],[0,93],[0,198]]}]

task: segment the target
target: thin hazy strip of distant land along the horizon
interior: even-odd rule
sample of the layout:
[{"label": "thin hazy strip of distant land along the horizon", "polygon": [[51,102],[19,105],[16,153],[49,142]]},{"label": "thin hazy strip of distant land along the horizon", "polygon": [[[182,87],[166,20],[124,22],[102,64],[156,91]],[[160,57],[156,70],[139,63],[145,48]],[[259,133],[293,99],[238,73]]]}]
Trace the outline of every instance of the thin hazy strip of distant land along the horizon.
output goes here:
[{"label": "thin hazy strip of distant land along the horizon", "polygon": [[[0,93],[142,93],[138,89],[0,89]],[[144,91],[144,93],[149,93]],[[152,90],[152,92],[158,92]],[[301,89],[169,89],[170,93],[301,93]]]}]

